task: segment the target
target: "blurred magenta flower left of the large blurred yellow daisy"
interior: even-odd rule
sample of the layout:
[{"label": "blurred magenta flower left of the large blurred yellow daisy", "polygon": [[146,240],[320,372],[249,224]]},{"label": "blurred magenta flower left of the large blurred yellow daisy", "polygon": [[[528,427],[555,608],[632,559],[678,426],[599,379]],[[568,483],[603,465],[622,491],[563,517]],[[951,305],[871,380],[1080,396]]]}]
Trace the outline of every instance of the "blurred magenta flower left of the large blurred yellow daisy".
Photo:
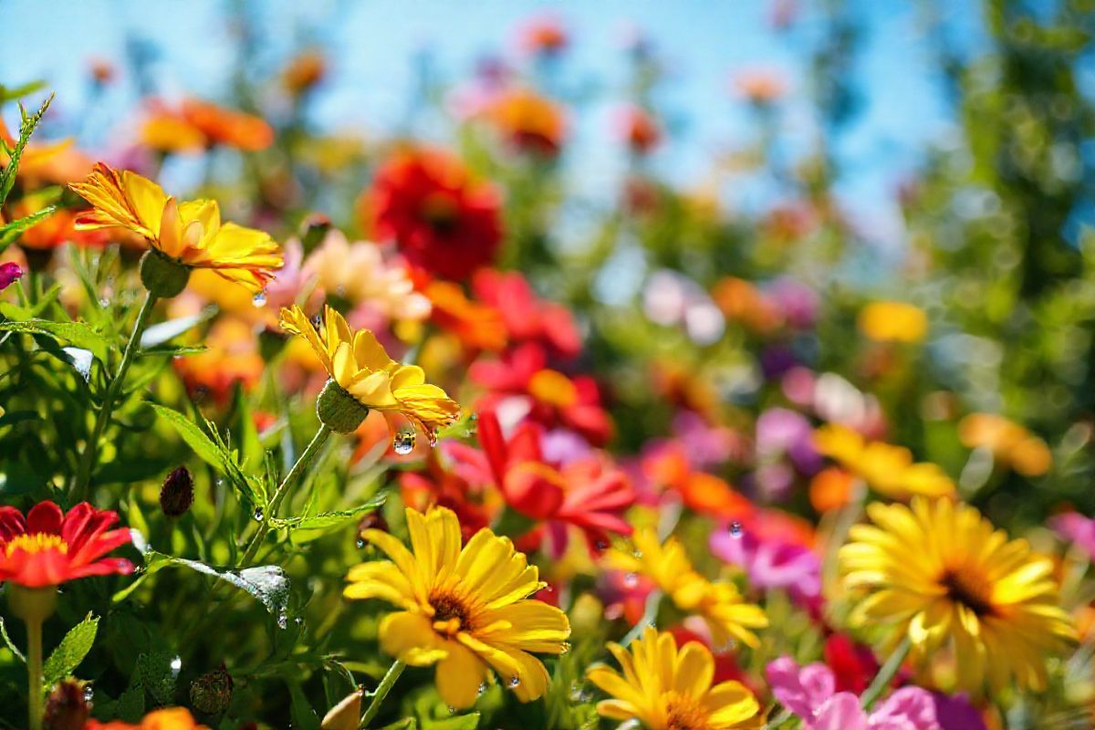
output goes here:
[{"label": "blurred magenta flower left of the large blurred yellow daisy", "polygon": [[821,595],[821,561],[802,545],[765,540],[753,530],[724,529],[712,533],[711,552],[745,568],[749,582],[758,588],[786,589],[803,603]]}]

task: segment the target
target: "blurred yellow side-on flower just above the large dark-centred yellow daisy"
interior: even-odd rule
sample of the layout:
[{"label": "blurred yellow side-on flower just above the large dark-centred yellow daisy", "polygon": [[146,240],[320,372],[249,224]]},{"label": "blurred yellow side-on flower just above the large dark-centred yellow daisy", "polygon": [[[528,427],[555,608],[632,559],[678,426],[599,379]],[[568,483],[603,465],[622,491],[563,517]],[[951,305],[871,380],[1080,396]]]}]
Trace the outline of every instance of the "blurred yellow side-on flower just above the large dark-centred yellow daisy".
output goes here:
[{"label": "blurred yellow side-on flower just above the large dark-centred yellow daisy", "polygon": [[913,462],[912,452],[883,441],[867,441],[852,429],[829,424],[814,431],[814,448],[891,499],[913,495],[947,497],[955,484],[946,473],[927,462]]}]

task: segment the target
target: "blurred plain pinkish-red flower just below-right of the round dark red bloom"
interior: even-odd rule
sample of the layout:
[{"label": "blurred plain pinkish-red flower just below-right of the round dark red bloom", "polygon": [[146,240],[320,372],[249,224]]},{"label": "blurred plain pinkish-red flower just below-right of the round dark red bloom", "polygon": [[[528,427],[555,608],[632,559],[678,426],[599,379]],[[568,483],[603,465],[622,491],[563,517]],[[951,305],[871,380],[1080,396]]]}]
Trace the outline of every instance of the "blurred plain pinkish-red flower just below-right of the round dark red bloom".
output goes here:
[{"label": "blurred plain pinkish-red flower just below-right of the round dark red bloom", "polygon": [[472,279],[472,290],[502,315],[509,339],[537,341],[563,358],[581,350],[581,335],[570,311],[537,297],[520,271],[480,269]]}]

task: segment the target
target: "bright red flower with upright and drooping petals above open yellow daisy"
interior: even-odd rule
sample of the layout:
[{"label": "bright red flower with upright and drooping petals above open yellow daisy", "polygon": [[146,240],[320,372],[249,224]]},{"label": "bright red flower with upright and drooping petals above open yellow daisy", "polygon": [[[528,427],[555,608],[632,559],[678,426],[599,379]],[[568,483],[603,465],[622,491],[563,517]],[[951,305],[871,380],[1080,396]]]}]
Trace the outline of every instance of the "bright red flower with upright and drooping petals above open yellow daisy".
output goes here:
[{"label": "bright red flower with upright and drooping petals above open yellow daisy", "polygon": [[623,512],[635,501],[624,473],[602,456],[586,456],[563,467],[543,459],[543,431],[522,424],[507,440],[491,410],[480,413],[482,451],[454,444],[449,455],[472,482],[493,484],[514,510],[545,526],[561,555],[566,526],[583,531],[590,548],[608,545],[610,533],[630,535]]}]

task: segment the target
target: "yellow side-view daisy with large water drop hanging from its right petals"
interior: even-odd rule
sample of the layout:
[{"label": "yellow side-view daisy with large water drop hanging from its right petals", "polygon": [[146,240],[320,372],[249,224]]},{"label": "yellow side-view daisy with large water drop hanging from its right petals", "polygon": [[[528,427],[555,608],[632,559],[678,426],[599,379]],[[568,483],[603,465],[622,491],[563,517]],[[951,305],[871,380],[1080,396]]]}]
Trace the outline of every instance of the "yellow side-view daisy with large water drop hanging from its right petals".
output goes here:
[{"label": "yellow side-view daisy with large water drop hanging from its right petals", "polygon": [[[324,413],[324,395],[320,396],[320,417],[341,433],[353,431],[365,418],[365,408],[382,413],[403,414],[433,437],[438,428],[448,426],[460,416],[460,406],[437,385],[426,383],[426,374],[417,366],[407,366],[388,357],[376,335],[368,329],[354,332],[342,314],[324,306],[323,324],[315,326],[299,305],[283,309],[281,328],[300,335],[319,357],[338,390],[330,391],[328,413]],[[328,385],[330,389],[330,385]],[[353,398],[348,421],[333,418],[341,394]],[[343,397],[343,399],[346,399]],[[357,418],[355,422],[354,418]]]}]

